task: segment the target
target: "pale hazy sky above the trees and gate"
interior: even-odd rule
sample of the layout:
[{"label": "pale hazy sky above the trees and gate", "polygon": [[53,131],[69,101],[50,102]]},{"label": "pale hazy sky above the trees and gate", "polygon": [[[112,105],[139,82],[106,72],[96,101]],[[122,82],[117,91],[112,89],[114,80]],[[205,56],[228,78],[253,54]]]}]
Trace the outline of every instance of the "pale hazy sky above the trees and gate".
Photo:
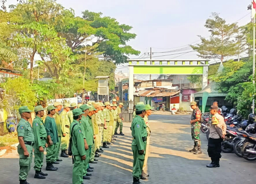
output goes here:
[{"label": "pale hazy sky above the trees and gate", "polygon": [[[15,1],[9,0],[9,3]],[[135,33],[137,37],[127,44],[139,50],[141,54],[129,58],[149,57],[148,52],[152,47],[155,59],[197,59],[196,52],[183,53],[190,50],[165,54],[157,52],[200,43],[197,35],[210,35],[204,24],[211,12],[219,13],[227,23],[237,22],[242,26],[250,22],[250,10],[247,10],[247,6],[251,0],[57,0],[57,3],[65,8],[72,8],[77,16],[84,10],[102,12],[103,16],[113,17],[120,24],[132,26],[130,32]],[[156,57],[168,54],[174,55]],[[117,70],[128,72],[126,66],[119,65]]]}]

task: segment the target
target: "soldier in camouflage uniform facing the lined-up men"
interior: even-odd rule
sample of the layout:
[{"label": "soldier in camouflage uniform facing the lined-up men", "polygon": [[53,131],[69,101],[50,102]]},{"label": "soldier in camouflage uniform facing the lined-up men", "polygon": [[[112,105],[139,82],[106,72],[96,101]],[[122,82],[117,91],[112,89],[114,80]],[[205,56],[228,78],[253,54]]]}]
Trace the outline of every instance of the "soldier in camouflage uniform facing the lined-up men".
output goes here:
[{"label": "soldier in camouflage uniform facing the lined-up men", "polygon": [[194,152],[194,154],[200,154],[200,153],[202,153],[202,151],[201,151],[201,140],[200,140],[201,111],[197,107],[197,103],[195,101],[192,101],[190,103],[190,107],[193,109],[190,124],[191,124],[192,140],[194,141],[194,148],[189,150],[189,151]]}]

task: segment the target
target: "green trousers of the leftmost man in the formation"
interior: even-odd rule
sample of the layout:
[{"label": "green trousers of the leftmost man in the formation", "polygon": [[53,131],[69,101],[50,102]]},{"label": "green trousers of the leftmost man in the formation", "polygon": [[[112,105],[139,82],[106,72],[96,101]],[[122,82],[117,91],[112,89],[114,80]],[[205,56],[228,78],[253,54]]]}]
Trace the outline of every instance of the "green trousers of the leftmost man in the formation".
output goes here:
[{"label": "green trousers of the leftmost man in the formation", "polygon": [[24,155],[24,150],[20,145],[17,146],[17,151],[19,153],[19,180],[26,180],[28,172],[30,171],[31,162],[33,158],[33,147],[25,144],[29,157]]}]

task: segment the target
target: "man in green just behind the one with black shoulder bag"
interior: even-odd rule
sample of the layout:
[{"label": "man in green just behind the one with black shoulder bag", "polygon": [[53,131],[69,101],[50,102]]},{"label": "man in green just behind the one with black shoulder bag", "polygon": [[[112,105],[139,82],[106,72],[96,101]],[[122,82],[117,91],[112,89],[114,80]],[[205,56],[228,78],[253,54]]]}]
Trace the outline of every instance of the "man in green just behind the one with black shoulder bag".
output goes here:
[{"label": "man in green just behind the one with black shoulder bag", "polygon": [[[89,120],[87,118],[87,115],[89,114],[89,108],[90,106],[87,106],[86,104],[83,104],[82,106],[79,107],[84,114],[82,114],[82,119],[81,119],[81,131],[83,133],[83,138],[84,138],[84,149],[85,149],[85,155],[86,159],[83,163],[83,179],[90,179],[91,174],[87,173],[88,169],[88,164],[89,164],[89,158],[90,158],[90,150],[91,150],[91,145],[93,144],[93,130],[89,124]],[[90,169],[90,168],[89,168]],[[93,171],[93,170],[92,170]]]}]

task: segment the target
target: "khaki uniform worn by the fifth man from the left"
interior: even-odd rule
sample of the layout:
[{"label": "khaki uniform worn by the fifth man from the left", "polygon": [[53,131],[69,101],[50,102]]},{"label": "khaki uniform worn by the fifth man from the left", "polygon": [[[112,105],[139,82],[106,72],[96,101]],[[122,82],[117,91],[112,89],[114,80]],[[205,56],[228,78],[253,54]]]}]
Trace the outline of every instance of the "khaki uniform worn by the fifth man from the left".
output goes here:
[{"label": "khaki uniform worn by the fifth man from the left", "polygon": [[[62,138],[61,138],[61,150],[66,150],[69,142],[69,127],[70,122],[68,118],[68,114],[65,110],[60,113],[60,122],[61,122],[61,130],[62,130]],[[63,134],[66,133],[66,136],[63,137]]]}]

